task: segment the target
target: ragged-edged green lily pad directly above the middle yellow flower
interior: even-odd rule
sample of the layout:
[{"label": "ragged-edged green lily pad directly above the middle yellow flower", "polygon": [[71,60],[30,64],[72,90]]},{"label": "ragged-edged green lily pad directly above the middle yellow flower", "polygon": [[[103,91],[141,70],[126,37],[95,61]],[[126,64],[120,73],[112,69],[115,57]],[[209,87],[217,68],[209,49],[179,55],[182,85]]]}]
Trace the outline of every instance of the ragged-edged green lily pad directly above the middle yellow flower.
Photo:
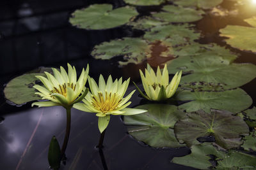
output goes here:
[{"label": "ragged-edged green lily pad directly above the middle yellow flower", "polygon": [[111,59],[116,56],[124,55],[124,62],[138,64],[147,59],[147,53],[150,53],[150,47],[147,41],[140,38],[124,38],[104,42],[93,48],[92,56],[95,59]]}]

